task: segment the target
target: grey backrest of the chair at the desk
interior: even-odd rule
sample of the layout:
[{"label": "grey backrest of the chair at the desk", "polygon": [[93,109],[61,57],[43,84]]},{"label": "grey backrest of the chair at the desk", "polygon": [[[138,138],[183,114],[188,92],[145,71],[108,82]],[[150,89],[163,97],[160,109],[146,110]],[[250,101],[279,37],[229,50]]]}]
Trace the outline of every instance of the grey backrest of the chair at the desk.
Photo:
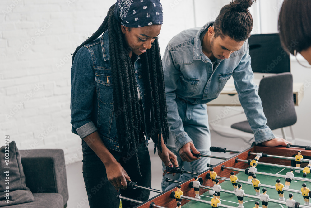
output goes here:
[{"label": "grey backrest of the chair at the desk", "polygon": [[272,130],[296,123],[293,76],[290,72],[263,78],[259,84],[258,94],[262,100],[267,125]]}]

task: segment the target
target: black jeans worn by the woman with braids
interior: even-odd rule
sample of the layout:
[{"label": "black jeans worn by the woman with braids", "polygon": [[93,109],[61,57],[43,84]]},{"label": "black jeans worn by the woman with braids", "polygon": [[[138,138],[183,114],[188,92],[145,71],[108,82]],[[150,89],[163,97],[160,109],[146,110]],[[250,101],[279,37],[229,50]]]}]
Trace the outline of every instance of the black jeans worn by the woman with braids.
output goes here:
[{"label": "black jeans worn by the woman with braids", "polygon": [[[124,170],[133,182],[137,182],[141,186],[151,186],[151,164],[150,156],[145,150],[145,143],[139,144],[138,160],[140,163],[140,171],[142,177],[139,176],[135,156],[130,152],[117,152],[109,149],[111,154],[122,165]],[[116,198],[118,192],[108,181],[106,169],[103,162],[95,154],[95,152],[84,142],[82,139],[82,152],[83,152],[83,166],[82,173],[86,192],[89,200],[90,208],[119,208],[119,199]],[[121,196],[127,196],[139,201],[146,201],[149,199],[150,191],[142,189],[132,189],[128,187],[126,190],[121,191]],[[137,206],[134,202],[122,200],[123,208],[130,208]]]}]

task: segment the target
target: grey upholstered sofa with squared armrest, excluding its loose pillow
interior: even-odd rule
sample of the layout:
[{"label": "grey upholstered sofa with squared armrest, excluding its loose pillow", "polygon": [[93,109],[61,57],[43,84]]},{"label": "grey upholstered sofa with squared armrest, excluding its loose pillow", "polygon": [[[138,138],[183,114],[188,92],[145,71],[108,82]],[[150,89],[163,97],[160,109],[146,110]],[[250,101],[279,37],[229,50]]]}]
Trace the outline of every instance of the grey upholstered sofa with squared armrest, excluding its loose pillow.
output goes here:
[{"label": "grey upholstered sofa with squared armrest, excluding its loose pillow", "polygon": [[26,186],[35,201],[7,208],[64,208],[68,188],[64,151],[61,149],[19,150]]}]

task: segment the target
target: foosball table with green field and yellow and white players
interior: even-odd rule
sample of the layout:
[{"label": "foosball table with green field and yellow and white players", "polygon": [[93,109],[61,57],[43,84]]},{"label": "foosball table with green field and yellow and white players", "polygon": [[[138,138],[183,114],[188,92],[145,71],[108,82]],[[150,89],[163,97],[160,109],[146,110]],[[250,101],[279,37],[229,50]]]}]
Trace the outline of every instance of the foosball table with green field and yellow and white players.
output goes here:
[{"label": "foosball table with green field and yellow and white players", "polygon": [[129,181],[128,187],[159,193],[148,201],[117,197],[137,203],[135,208],[311,207],[311,147],[265,147],[253,143],[242,152],[216,147],[211,147],[211,151],[236,154],[230,158],[197,155],[224,160],[217,165],[207,164],[207,170],[201,173],[167,167],[168,172],[193,175],[188,181],[167,178],[167,181],[176,183],[176,187],[168,191],[142,187]]}]

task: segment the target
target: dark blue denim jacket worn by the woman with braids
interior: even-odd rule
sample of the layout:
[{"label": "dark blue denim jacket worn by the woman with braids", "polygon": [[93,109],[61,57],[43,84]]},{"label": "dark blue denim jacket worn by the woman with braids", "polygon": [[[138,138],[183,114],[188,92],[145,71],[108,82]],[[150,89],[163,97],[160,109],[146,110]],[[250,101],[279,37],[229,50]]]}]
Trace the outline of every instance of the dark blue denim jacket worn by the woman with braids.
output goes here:
[{"label": "dark blue denim jacket worn by the woman with braids", "polygon": [[[145,109],[145,88],[139,56],[134,62],[134,69],[142,106]],[[122,151],[114,111],[108,31],[95,41],[81,47],[75,56],[71,68],[70,109],[73,133],[83,139],[98,131],[107,148]],[[122,109],[116,113],[118,116],[122,113]]]}]

